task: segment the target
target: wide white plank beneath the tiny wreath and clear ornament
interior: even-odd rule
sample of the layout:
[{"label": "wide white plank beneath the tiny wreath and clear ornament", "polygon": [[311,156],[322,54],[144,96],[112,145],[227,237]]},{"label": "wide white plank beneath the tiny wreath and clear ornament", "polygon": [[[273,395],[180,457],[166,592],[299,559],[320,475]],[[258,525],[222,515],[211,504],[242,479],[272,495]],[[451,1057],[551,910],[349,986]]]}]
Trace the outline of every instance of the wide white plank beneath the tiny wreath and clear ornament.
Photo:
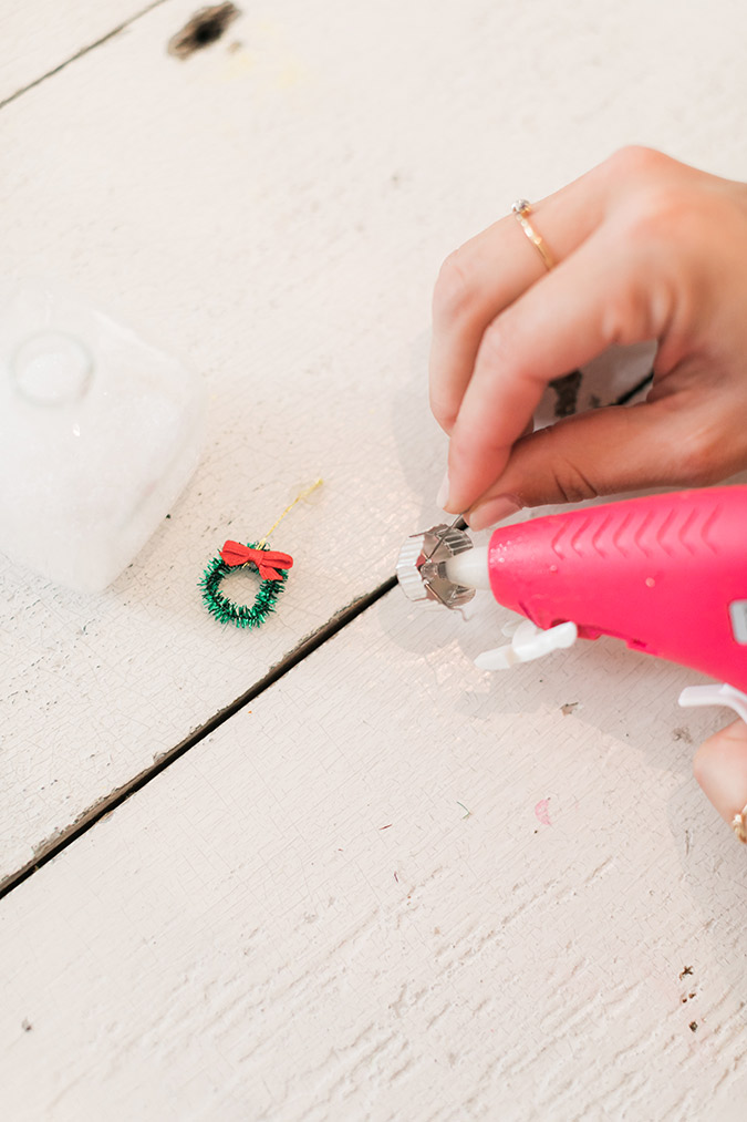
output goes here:
[{"label": "wide white plank beneath the tiny wreath and clear ornament", "polygon": [[[0,879],[434,519],[428,303],[449,250],[633,139],[744,171],[745,15],[726,0],[674,22],[643,0],[532,0],[520,20],[486,0],[288,0],[169,57],[194,8],[169,0],[0,113],[4,270],[73,280],[211,395],[199,475],[105,595],[1,565]],[[320,504],[274,542],[297,561],[277,617],[222,631],[200,604],[204,563],[320,475]]]}]

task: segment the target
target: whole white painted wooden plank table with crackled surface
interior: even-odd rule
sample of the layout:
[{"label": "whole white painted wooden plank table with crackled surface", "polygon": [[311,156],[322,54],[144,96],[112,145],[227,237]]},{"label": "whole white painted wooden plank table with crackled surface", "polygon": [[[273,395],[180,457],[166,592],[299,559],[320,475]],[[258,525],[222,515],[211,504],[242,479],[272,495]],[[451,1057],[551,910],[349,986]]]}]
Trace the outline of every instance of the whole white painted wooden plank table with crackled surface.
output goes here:
[{"label": "whole white painted wooden plank table with crackled surface", "polygon": [[[394,590],[200,738],[435,518],[443,256],[622,142],[745,177],[741,6],[288,0],[184,61],[194,7],[144,7],[2,16],[3,269],[211,396],[112,589],[0,572],[6,1113],[743,1118],[744,854],[690,775],[722,719],[676,710],[694,675],[610,642],[488,678],[499,608]],[[277,616],[221,629],[204,562],[317,475]]]}]

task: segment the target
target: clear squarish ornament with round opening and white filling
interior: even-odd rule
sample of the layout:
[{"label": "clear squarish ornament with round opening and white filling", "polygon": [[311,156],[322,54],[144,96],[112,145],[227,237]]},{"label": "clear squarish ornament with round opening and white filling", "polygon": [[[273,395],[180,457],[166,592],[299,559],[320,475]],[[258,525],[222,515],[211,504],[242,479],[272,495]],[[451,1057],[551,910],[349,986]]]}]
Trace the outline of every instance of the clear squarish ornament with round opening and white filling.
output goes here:
[{"label": "clear squarish ornament with round opening and white filling", "polygon": [[179,361],[46,282],[0,293],[0,550],[100,591],[194,471],[204,394]]}]

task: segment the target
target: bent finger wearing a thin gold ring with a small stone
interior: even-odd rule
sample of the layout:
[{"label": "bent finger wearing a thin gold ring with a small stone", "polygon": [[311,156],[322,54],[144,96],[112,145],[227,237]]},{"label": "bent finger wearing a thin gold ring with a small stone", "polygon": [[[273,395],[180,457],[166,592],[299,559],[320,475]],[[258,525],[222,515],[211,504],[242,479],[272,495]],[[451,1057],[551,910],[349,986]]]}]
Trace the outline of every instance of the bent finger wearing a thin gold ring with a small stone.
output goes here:
[{"label": "bent finger wearing a thin gold ring with a small stone", "polygon": [[[605,167],[594,168],[533,206],[531,222],[556,260],[599,226],[610,178]],[[487,327],[545,272],[513,214],[444,263],[433,296],[430,370],[431,408],[445,432],[453,429]]]}]

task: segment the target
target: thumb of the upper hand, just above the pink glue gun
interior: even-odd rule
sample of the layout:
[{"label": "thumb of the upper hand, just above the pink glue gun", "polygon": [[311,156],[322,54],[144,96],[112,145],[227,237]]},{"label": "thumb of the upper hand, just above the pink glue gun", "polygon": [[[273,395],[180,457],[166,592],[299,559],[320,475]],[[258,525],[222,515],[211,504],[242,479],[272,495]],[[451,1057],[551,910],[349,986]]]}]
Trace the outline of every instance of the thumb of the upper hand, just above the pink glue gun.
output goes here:
[{"label": "thumb of the upper hand, just above the pink glue gun", "polygon": [[518,440],[500,476],[467,518],[483,530],[522,506],[580,503],[645,487],[707,482],[699,426],[672,397],[614,405]]}]

